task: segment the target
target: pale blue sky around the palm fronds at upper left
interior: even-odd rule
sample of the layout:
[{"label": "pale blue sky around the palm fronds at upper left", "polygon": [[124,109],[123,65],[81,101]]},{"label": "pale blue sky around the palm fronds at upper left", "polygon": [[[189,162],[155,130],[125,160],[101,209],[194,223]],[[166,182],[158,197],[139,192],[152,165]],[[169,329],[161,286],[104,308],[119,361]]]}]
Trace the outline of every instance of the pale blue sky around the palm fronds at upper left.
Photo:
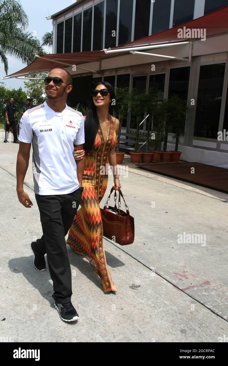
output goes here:
[{"label": "pale blue sky around the palm fronds at upper left", "polygon": [[[46,16],[55,14],[57,11],[60,11],[72,3],[73,0],[36,0],[36,1],[28,1],[28,0],[20,0],[28,18],[29,18],[29,27],[28,31],[33,32],[36,31],[37,38],[41,41],[42,36],[47,31],[52,30],[52,20],[46,20]],[[48,14],[49,12],[49,14]],[[46,52],[52,53],[52,48],[45,48]],[[8,57],[8,75],[21,70],[26,64],[23,64],[19,60],[14,57]],[[6,79],[1,80],[1,77],[5,76],[5,71],[3,64],[0,63],[0,81],[5,83],[7,88],[15,88],[18,89],[20,86],[24,89],[23,80],[19,79]]]}]

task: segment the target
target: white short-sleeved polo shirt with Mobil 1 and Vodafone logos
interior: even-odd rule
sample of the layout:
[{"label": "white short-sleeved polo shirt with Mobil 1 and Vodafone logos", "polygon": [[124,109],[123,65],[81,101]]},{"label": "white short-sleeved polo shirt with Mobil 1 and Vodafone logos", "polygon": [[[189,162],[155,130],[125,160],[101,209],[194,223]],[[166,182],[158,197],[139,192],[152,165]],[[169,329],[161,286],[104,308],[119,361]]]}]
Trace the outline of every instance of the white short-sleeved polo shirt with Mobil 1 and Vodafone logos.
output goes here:
[{"label": "white short-sleeved polo shirt with Mobil 1 and Vodafone logos", "polygon": [[85,142],[82,113],[67,104],[56,113],[45,101],[23,114],[19,141],[33,145],[35,193],[67,194],[79,187],[74,144]]}]

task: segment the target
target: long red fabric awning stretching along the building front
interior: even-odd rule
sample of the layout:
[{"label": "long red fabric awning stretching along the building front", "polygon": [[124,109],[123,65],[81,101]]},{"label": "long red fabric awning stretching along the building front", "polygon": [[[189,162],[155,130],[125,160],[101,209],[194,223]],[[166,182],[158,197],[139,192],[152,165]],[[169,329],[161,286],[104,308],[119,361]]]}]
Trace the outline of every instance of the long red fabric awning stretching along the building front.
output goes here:
[{"label": "long red fabric awning stretching along the building front", "polygon": [[[190,29],[195,28],[203,28],[206,29],[206,37],[213,36],[216,34],[227,33],[228,32],[228,6],[216,10],[210,14],[201,16],[200,18],[191,20],[190,22],[183,23],[182,25],[173,27],[171,29],[153,34],[152,36],[144,37],[139,40],[128,42],[124,45],[120,45],[112,48],[113,50],[117,50],[120,48],[131,48],[133,46],[149,46],[164,42],[170,41],[181,41],[177,37],[177,30],[186,27]],[[187,39],[189,41],[189,39]],[[118,52],[114,54],[106,54],[104,51],[88,51],[88,52],[73,52],[73,53],[55,53],[49,55],[40,55],[41,57],[45,57],[45,59],[41,57],[37,57],[30,65],[26,66],[22,70],[14,72],[9,76],[20,76],[20,75],[31,75],[36,74],[38,72],[50,71],[55,67],[67,67],[72,66],[72,64],[80,65],[93,61],[100,61],[103,59],[111,59],[116,56],[124,56],[128,54],[128,52]],[[58,61],[56,63],[55,61]],[[68,64],[68,65],[66,65]],[[84,66],[86,67],[86,66]]]}]

